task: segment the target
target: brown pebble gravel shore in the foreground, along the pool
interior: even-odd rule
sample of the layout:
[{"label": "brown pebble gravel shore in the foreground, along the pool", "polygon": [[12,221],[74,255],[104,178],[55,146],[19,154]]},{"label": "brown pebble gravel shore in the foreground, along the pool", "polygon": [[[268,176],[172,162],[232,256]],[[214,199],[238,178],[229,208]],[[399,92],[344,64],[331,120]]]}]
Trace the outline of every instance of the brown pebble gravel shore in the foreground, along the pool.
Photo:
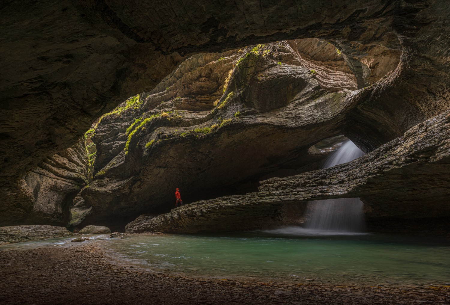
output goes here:
[{"label": "brown pebble gravel shore in the foreground, along the pool", "polygon": [[[450,304],[450,286],[188,278],[116,265],[93,243],[0,251],[0,304]],[[261,279],[263,280],[263,279]]]}]

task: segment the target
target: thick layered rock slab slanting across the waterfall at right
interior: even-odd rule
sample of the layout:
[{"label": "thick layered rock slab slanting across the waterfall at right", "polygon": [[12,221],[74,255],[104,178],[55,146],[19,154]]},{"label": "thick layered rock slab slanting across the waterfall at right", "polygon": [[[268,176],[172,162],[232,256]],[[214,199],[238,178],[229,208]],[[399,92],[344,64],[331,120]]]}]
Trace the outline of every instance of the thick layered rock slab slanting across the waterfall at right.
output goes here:
[{"label": "thick layered rock slab slanting across the waterfall at right", "polygon": [[[281,200],[359,197],[368,217],[450,216],[450,112],[352,162],[261,182]],[[290,194],[285,193],[290,190]]]}]

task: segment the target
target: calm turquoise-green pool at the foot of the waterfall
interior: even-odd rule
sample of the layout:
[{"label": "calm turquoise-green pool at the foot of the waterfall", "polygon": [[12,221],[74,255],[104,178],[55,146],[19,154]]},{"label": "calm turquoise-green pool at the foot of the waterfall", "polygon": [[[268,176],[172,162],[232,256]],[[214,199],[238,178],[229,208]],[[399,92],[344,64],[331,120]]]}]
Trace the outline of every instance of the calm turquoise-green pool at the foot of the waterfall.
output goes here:
[{"label": "calm turquoise-green pool at the foot of the waterfall", "polygon": [[105,246],[119,253],[121,260],[146,268],[210,277],[373,284],[450,282],[450,247],[445,239],[381,234],[299,236],[289,232],[137,235]]}]

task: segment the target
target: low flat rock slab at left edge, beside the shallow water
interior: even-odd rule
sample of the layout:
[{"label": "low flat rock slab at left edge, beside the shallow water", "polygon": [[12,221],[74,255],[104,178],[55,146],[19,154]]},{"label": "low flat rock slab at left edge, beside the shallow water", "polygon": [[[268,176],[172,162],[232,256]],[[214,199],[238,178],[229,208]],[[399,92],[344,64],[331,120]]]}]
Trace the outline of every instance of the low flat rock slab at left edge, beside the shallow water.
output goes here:
[{"label": "low flat rock slab at left edge, beside the shallow water", "polygon": [[53,225],[13,225],[0,227],[0,245],[31,240],[78,235]]}]

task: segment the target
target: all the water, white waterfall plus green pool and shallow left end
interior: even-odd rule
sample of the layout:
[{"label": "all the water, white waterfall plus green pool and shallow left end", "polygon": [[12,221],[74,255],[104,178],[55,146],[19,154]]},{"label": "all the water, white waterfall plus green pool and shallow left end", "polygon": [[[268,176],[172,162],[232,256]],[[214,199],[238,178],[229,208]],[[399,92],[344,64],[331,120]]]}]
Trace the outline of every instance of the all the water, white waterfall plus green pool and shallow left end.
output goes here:
[{"label": "all the water, white waterfall plus green pool and shallow left end", "polygon": [[[351,141],[325,167],[364,155]],[[363,234],[356,198],[311,203],[307,228],[221,234],[89,235],[116,262],[155,272],[258,280],[307,278],[328,283],[431,284],[450,282],[446,237]],[[0,246],[0,251],[74,247],[65,237]],[[76,246],[76,245],[75,245]]]}]

